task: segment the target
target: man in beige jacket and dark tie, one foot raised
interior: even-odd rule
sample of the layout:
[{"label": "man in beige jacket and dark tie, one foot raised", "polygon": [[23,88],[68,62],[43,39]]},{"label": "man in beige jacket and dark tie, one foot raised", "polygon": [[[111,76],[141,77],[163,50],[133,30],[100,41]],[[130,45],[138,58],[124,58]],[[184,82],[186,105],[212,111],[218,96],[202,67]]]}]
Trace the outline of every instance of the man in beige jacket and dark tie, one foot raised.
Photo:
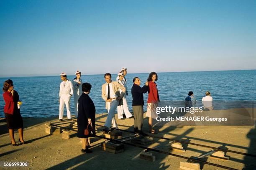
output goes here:
[{"label": "man in beige jacket and dark tie, one foot raised", "polygon": [[[122,86],[117,81],[111,80],[111,74],[106,73],[104,75],[106,83],[102,85],[102,99],[106,101],[106,109],[108,109],[108,117],[105,122],[104,132],[109,132],[111,127],[111,122],[113,127],[118,128],[117,123],[115,121],[115,110],[118,105],[123,105],[123,96],[126,92],[124,86]],[[119,89],[122,90],[120,93]]]}]

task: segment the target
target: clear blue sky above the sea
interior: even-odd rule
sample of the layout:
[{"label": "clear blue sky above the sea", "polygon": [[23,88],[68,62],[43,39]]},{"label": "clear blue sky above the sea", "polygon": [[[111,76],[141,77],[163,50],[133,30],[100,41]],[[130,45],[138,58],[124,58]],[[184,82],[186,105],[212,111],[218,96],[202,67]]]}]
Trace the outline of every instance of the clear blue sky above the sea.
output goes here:
[{"label": "clear blue sky above the sea", "polygon": [[1,0],[0,76],[256,69],[256,0]]}]

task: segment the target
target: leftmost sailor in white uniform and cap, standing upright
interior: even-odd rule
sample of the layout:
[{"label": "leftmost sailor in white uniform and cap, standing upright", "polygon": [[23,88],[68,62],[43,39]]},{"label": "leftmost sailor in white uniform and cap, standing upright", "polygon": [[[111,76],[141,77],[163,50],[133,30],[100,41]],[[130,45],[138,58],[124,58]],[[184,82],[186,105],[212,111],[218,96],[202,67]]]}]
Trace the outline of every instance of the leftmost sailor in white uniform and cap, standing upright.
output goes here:
[{"label": "leftmost sailor in white uniform and cap, standing upright", "polygon": [[72,82],[67,80],[67,74],[61,73],[61,84],[59,88],[59,120],[63,120],[64,104],[67,108],[67,117],[71,119],[70,112],[70,98],[73,95],[73,85]]}]

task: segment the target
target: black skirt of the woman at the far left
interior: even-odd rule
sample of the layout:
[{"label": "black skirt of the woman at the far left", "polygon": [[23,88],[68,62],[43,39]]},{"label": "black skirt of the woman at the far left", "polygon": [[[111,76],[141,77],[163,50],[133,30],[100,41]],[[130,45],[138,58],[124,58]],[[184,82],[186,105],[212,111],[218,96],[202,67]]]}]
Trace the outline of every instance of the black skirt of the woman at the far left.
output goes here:
[{"label": "black skirt of the woman at the far left", "polygon": [[20,110],[17,109],[13,114],[5,113],[5,120],[8,129],[20,129],[23,128],[23,120],[20,115]]}]

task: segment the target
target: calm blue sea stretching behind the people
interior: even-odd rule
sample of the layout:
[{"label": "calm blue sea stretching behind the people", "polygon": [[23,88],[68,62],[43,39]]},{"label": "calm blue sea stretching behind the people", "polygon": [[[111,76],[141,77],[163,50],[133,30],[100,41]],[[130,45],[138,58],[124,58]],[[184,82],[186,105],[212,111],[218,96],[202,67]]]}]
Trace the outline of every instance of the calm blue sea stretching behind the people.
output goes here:
[{"label": "calm blue sea stretching behind the people", "polygon": [[[113,80],[116,78],[113,74]],[[132,110],[131,87],[133,77],[138,76],[141,84],[146,82],[148,74],[127,74],[129,109]],[[72,80],[74,76],[68,76]],[[9,77],[0,78],[1,88],[6,79],[12,79],[14,89],[18,91],[23,101],[20,112],[23,117],[53,117],[59,115],[59,76],[40,77]],[[90,97],[95,103],[97,113],[107,112],[105,101],[101,98],[101,85],[105,83],[104,75],[82,75],[83,82],[92,84]],[[256,70],[243,71],[201,71],[159,73],[156,82],[160,100],[182,101],[188,91],[193,91],[198,101],[210,91],[214,101],[253,101],[256,97]],[[144,94],[145,103],[148,94]],[[74,114],[74,102],[71,110]],[[3,97],[0,97],[0,117],[4,117]],[[225,107],[225,106],[224,106]],[[222,107],[223,108],[223,107]],[[67,116],[66,110],[64,116]]]}]

